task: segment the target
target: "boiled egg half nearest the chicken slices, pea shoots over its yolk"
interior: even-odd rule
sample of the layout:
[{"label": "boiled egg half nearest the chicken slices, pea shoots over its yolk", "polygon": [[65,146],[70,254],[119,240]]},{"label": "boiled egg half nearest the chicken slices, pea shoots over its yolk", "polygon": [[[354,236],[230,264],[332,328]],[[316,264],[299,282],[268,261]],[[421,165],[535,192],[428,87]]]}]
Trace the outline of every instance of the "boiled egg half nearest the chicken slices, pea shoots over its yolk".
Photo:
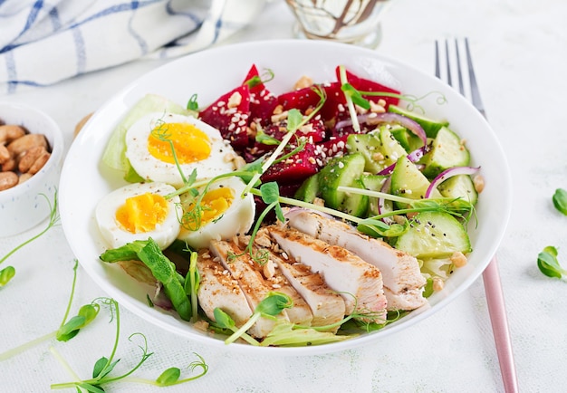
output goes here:
[{"label": "boiled egg half nearest the chicken slices, pea shoots over its yolk", "polygon": [[255,202],[250,193],[241,197],[244,189],[240,177],[226,177],[212,183],[200,202],[198,197],[182,196],[185,215],[178,239],[198,250],[208,247],[211,240],[227,240],[248,232],[254,223]]}]

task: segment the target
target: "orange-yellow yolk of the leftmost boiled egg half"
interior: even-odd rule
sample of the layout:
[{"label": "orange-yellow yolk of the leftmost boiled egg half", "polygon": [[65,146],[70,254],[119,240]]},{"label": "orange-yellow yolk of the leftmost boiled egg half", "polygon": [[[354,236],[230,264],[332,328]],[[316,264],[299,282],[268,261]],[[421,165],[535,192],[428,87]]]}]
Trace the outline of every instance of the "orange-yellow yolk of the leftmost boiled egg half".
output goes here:
[{"label": "orange-yellow yolk of the leftmost boiled egg half", "polygon": [[153,231],[167,216],[166,198],[151,193],[127,198],[116,211],[116,220],[131,234]]}]

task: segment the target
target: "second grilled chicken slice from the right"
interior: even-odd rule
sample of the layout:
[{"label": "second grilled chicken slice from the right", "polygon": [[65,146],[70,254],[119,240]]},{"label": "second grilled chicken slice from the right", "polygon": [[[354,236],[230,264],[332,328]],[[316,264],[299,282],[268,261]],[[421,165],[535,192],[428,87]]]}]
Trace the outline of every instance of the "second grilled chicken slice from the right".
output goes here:
[{"label": "second grilled chicken slice from the right", "polygon": [[331,245],[294,229],[269,227],[269,233],[286,254],[322,275],[324,282],[340,292],[351,314],[372,313],[375,321],[385,319],[386,297],[380,270],[338,245]]}]

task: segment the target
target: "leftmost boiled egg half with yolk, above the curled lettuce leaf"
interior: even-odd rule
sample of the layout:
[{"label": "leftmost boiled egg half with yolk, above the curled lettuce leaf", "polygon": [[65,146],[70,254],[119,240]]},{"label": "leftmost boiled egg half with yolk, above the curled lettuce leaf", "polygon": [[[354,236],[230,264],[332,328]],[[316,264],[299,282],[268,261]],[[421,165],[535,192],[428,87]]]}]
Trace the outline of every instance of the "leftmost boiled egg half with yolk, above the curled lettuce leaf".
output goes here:
[{"label": "leftmost boiled egg half with yolk, above the curled lettuce leaf", "polygon": [[102,238],[111,248],[151,237],[163,250],[177,238],[182,215],[179,197],[166,198],[175,187],[133,183],[106,195],[96,206]]}]

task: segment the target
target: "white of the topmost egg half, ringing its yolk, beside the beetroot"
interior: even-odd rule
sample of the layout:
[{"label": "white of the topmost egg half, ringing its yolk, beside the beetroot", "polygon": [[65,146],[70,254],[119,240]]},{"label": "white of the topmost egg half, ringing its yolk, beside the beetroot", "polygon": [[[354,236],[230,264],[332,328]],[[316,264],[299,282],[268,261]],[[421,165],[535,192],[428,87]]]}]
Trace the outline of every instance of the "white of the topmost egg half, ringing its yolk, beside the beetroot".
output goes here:
[{"label": "white of the topmost egg half, ringing its yolk, beside the beetroot", "polygon": [[193,169],[197,169],[197,179],[216,177],[235,170],[234,149],[222,138],[218,129],[191,116],[173,113],[149,113],[136,121],[126,131],[126,157],[132,168],[146,180],[168,183],[174,187],[183,186],[183,180],[175,164],[161,161],[149,153],[149,134],[159,123],[189,123],[207,134],[211,144],[210,155],[202,160],[189,164],[181,164],[180,168],[188,177]]}]

